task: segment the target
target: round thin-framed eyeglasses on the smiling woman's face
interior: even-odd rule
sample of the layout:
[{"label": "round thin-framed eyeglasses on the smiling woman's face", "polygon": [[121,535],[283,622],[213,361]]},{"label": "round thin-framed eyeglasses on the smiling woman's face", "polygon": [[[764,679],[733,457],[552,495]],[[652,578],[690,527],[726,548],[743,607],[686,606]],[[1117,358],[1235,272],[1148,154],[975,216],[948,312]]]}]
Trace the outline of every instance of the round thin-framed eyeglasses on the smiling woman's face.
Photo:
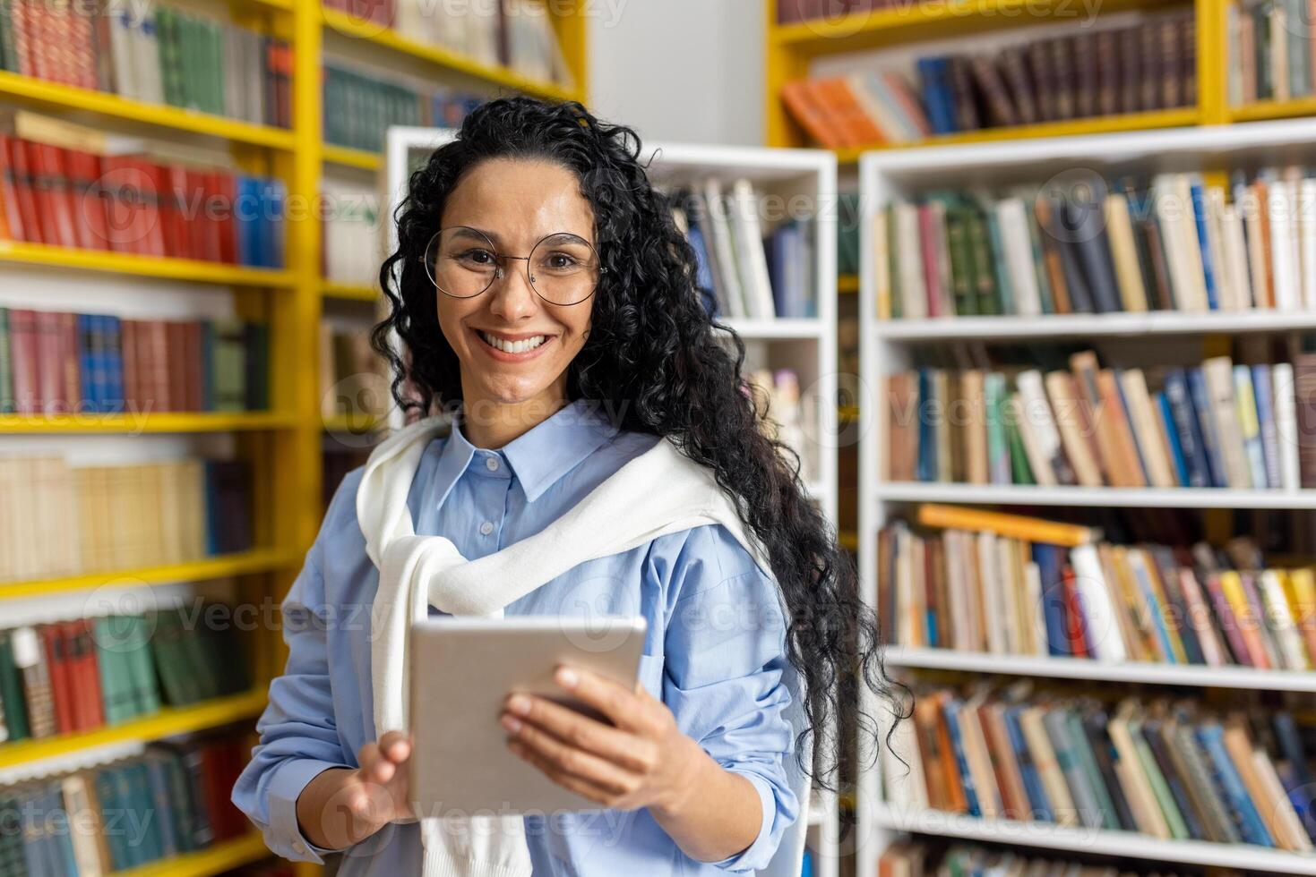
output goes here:
[{"label": "round thin-framed eyeglasses on the smiling woman's face", "polygon": [[605,271],[594,246],[570,231],[544,237],[528,256],[509,256],[479,229],[454,225],[434,233],[424,259],[429,279],[454,298],[480,295],[507,273],[508,260],[524,262],[530,288],[550,305],[580,304],[594,295]]}]

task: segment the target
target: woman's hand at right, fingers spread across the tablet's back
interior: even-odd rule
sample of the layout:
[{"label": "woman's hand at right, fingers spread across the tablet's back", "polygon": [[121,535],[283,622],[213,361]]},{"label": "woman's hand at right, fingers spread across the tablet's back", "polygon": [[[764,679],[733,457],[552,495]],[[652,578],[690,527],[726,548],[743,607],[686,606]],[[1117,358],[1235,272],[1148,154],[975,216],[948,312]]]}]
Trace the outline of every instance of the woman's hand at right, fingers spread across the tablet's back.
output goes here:
[{"label": "woman's hand at right, fingers spread across the tablet's back", "polygon": [[516,755],[605,807],[649,807],[692,859],[720,861],[754,841],[758,792],[682,734],[662,701],[641,685],[630,690],[572,667],[559,667],[555,680],[612,724],[544,697],[512,694],[500,721]]}]

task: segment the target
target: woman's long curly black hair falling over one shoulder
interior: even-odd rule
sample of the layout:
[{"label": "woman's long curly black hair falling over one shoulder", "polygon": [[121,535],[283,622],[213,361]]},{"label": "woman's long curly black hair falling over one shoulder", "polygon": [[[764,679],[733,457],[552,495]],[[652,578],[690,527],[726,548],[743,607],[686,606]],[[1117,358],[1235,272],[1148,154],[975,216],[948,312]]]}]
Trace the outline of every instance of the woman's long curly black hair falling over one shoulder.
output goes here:
[{"label": "woman's long curly black hair falling over one shoulder", "polygon": [[[871,610],[858,596],[854,561],[805,494],[797,456],[761,431],[761,400],[744,389],[745,343],[704,310],[695,252],[640,154],[633,129],[603,122],[574,101],[504,97],[470,113],[458,137],[411,175],[395,212],[397,250],[379,272],[391,314],[375,326],[372,343],[393,369],[400,405],[428,414],[459,402],[457,354],[440,330],[437,292],[422,264],[445,201],[487,159],[549,160],[571,170],[594,206],[605,271],[591,304],[592,329],[569,367],[567,394],[608,405],[621,429],[669,438],[716,473],[765,546],[782,589],[788,659],[807,692],[809,727],[796,752],[808,735],[815,746],[815,764],[801,768],[816,784],[836,788],[844,746],[825,728],[844,718],[865,731],[875,726],[861,706],[862,686],[891,701]],[[715,326],[730,334],[734,352]]]}]

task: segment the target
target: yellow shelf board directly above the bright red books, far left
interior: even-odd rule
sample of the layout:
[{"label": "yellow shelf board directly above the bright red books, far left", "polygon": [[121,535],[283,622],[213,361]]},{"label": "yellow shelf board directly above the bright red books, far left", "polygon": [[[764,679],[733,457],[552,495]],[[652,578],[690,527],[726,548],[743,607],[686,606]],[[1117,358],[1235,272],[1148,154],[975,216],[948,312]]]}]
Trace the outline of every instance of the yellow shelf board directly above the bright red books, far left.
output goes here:
[{"label": "yellow shelf board directly above the bright red books, far left", "polygon": [[[290,4],[291,8],[291,4]],[[89,88],[47,83],[32,76],[0,71],[0,95],[46,108],[82,110],[101,117],[120,118],[138,125],[167,128],[175,131],[218,137],[233,143],[247,143],[291,151],[292,131],[268,125],[253,125],[222,116],[163,104],[147,104]]]}]

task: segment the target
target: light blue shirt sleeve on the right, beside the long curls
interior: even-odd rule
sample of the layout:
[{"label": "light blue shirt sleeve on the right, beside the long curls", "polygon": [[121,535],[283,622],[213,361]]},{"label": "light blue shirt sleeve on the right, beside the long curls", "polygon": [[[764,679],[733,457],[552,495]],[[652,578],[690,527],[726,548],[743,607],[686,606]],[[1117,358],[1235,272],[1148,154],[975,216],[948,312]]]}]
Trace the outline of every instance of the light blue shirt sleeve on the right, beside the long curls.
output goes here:
[{"label": "light blue shirt sleeve on the right, beside the long curls", "polygon": [[651,561],[667,581],[663,702],[722,769],[753,784],[762,806],[754,843],[715,864],[759,870],[800,813],[787,770],[795,732],[783,675],[794,671],[778,586],[720,525],[695,527],[675,556]]}]

